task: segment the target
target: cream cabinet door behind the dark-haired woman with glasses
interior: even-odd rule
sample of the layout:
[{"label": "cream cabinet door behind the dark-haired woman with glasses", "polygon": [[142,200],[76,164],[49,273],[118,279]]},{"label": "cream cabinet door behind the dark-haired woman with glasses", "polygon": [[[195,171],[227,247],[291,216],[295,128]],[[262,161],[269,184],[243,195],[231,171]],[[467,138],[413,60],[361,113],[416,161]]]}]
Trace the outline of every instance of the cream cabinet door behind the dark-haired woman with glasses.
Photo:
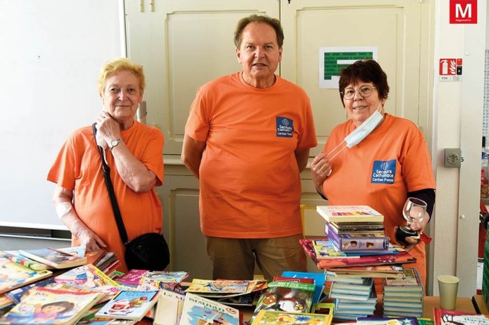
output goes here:
[{"label": "cream cabinet door behind the dark-haired woman with glasses", "polygon": [[426,138],[429,136],[426,101],[429,77],[428,69],[423,71],[428,64],[428,52],[422,52],[428,48],[428,39],[421,33],[429,26],[429,3],[365,2],[282,2],[285,34],[282,77],[300,85],[311,97],[319,140],[318,147],[312,150],[314,155],[323,149],[333,127],[346,120],[338,89],[319,87],[319,49],[324,47],[377,48],[377,61],[386,71],[391,87],[386,111],[413,121]]}]

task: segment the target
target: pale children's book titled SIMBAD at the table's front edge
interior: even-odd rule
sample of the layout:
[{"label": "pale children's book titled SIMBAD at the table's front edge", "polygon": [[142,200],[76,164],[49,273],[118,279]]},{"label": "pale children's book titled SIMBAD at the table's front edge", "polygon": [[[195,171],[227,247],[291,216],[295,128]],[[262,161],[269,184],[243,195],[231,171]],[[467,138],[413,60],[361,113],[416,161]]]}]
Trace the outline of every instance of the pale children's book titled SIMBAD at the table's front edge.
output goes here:
[{"label": "pale children's book titled SIMBAD at the table's front edge", "polygon": [[238,309],[188,293],[185,295],[180,325],[226,324],[239,325]]}]

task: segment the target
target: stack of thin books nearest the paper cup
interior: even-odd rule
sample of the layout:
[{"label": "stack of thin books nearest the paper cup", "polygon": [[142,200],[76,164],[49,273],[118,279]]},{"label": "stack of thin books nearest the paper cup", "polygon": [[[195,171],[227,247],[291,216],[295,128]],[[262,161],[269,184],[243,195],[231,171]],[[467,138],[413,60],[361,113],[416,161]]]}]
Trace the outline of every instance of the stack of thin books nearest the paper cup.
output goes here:
[{"label": "stack of thin books nearest the paper cup", "polygon": [[384,317],[421,317],[423,284],[416,268],[404,268],[403,278],[386,277],[384,283]]}]

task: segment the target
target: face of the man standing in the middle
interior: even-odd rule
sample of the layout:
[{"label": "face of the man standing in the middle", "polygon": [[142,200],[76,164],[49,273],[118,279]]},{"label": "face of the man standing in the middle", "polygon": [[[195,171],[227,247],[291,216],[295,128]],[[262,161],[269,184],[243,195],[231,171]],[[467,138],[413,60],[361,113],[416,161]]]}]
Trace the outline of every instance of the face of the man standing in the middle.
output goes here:
[{"label": "face of the man standing in the middle", "polygon": [[275,29],[263,22],[247,24],[242,31],[236,56],[247,84],[258,88],[273,85],[274,73],[282,60],[282,48],[277,43]]}]

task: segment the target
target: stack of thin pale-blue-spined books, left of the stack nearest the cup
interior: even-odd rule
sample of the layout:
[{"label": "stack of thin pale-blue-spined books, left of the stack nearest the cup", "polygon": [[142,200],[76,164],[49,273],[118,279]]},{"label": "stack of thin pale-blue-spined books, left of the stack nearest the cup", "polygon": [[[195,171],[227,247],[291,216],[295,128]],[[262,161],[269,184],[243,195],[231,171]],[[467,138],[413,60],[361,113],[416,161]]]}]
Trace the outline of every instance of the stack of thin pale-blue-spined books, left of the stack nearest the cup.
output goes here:
[{"label": "stack of thin pale-blue-spined books, left of the stack nearest the cup", "polygon": [[377,304],[372,277],[338,277],[330,287],[335,298],[335,320],[351,320],[374,315]]}]

